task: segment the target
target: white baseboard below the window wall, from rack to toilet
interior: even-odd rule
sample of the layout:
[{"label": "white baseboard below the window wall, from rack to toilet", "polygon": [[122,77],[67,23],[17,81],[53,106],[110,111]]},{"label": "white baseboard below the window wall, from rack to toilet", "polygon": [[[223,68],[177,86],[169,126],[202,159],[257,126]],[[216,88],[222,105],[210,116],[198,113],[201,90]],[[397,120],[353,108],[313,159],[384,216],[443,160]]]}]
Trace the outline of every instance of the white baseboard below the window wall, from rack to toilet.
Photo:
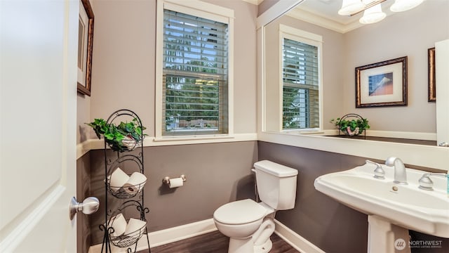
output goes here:
[{"label": "white baseboard below the window wall, from rack to toilet", "polygon": [[[188,223],[182,226],[175,226],[173,228],[163,229],[161,231],[154,231],[148,234],[149,247],[157,247],[165,245],[170,242],[177,242],[187,238],[192,238],[196,235],[203,235],[217,231],[213,219],[207,219],[203,221],[197,221],[194,223]],[[93,245],[89,248],[89,253],[100,253],[101,244]],[[112,253],[126,253],[127,248],[119,248],[112,245]],[[138,251],[148,249],[147,236],[143,235],[138,241]]]}]

